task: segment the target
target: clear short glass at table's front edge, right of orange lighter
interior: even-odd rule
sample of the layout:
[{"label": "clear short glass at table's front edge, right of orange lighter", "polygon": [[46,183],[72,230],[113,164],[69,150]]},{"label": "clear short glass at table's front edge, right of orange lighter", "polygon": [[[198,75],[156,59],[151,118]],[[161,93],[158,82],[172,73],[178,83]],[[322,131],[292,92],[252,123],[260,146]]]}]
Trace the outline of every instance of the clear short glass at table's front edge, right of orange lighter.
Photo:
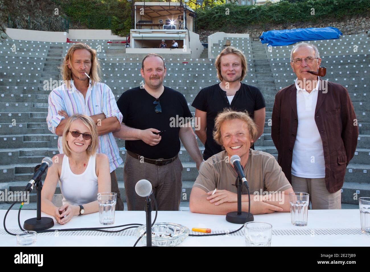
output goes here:
[{"label": "clear short glass at table's front edge, right of orange lighter", "polygon": [[264,222],[244,224],[246,246],[271,246],[272,225]]}]

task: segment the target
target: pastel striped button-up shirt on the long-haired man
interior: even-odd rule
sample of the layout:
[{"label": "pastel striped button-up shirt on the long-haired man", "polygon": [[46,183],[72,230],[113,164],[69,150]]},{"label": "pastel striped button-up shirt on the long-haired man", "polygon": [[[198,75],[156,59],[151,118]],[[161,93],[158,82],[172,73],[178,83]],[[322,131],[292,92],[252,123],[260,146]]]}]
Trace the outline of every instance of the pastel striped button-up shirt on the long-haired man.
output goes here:
[{"label": "pastel striped button-up shirt on the long-haired man", "polygon": [[[114,94],[106,84],[95,83],[91,86],[90,80],[86,97],[84,98],[84,95],[75,88],[73,81],[70,82],[70,89],[63,84],[49,94],[46,121],[51,132],[55,134],[55,128],[64,119],[63,116],[58,114],[59,110],[64,110],[68,116],[77,113],[88,116],[104,113],[106,118],[114,116],[117,117],[120,123],[122,122],[123,117],[120,110],[118,110]],[[58,150],[60,153],[63,153],[62,138],[59,137],[58,139]],[[112,132],[99,136],[97,152],[108,156],[110,172],[114,171],[123,162]]]}]

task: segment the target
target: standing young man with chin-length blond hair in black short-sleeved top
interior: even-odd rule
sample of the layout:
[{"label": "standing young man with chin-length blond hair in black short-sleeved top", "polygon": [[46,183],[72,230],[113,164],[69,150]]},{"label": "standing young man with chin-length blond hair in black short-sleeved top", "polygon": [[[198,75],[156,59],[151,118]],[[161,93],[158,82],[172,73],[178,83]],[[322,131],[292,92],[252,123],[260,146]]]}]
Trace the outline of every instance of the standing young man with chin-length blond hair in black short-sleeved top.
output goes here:
[{"label": "standing young man with chin-length blond hair in black short-sleeved top", "polygon": [[[224,108],[248,111],[258,126],[254,141],[262,135],[265,126],[266,105],[262,93],[258,88],[240,82],[247,71],[247,60],[243,52],[231,46],[226,47],[217,56],[215,67],[221,83],[203,88],[192,103],[196,109],[195,118],[200,124],[195,133],[205,146],[204,160],[222,151],[222,147],[213,140],[212,133],[215,118]],[[251,148],[254,150],[253,145]]]}]

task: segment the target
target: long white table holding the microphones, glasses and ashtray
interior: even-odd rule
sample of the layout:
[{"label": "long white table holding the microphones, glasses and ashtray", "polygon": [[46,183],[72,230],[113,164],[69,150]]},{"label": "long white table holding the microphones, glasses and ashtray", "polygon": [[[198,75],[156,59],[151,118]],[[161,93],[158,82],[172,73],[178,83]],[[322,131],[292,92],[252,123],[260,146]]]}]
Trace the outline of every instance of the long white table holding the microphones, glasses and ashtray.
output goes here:
[{"label": "long white table holding the microphones, glasses and ashtray", "polygon": [[[6,210],[0,210],[0,246],[17,246],[16,236],[9,235],[3,228]],[[7,215],[6,227],[12,233],[19,233],[17,222],[18,210],[11,210]],[[154,219],[155,212],[152,212]],[[41,216],[48,216],[42,213]],[[20,221],[36,217],[36,211],[21,211]],[[358,209],[343,210],[309,210],[308,225],[293,226],[290,213],[255,215],[255,221],[272,224],[271,246],[369,246],[370,235],[363,234],[360,229],[360,211]],[[159,211],[158,222],[172,222],[191,228],[211,228],[212,233],[233,231],[241,225],[231,224],[224,215],[194,214],[189,211]],[[115,225],[145,224],[144,211],[116,211]],[[54,220],[52,229],[101,227],[99,214],[74,216],[65,225]],[[111,229],[113,230],[113,229]],[[193,233],[193,232],[191,232]],[[201,234],[195,232],[194,234]],[[142,238],[143,239],[143,238]],[[134,229],[118,233],[98,231],[75,231],[37,234],[37,242],[32,246],[133,246],[137,240]],[[141,246],[141,242],[138,246]],[[179,246],[245,246],[244,230],[228,236],[192,237],[189,236]]]}]

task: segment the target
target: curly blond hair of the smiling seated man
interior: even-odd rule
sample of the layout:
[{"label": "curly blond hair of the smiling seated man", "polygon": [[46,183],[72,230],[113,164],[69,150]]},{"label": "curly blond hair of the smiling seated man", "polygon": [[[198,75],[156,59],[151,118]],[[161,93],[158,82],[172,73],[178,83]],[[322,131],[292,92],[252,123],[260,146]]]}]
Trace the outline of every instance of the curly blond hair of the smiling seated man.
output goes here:
[{"label": "curly blond hair of the smiling seated man", "polygon": [[[225,149],[223,147],[222,142],[222,136],[221,136],[221,125],[225,121],[230,121],[234,119],[240,119],[248,125],[248,130],[250,134],[250,140],[254,140],[257,137],[258,134],[258,127],[253,121],[252,118],[250,118],[248,111],[233,111],[230,108],[225,108],[221,113],[219,113],[215,119],[215,128],[213,130],[213,140],[219,145],[221,145],[222,149]],[[252,146],[252,142],[250,143]]]}]

